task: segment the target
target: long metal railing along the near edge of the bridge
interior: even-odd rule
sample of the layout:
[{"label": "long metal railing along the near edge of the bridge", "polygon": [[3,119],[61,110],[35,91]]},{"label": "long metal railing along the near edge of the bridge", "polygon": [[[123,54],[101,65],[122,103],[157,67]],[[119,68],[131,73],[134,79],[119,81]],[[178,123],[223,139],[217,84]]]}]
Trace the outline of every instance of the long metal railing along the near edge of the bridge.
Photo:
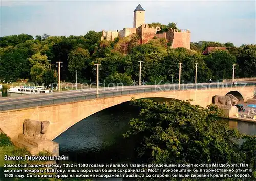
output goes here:
[{"label": "long metal railing along the near edge of the bridge", "polygon": [[[256,83],[246,83],[246,84],[240,84],[236,87],[244,87],[244,86],[255,86]],[[163,89],[162,85],[159,85],[159,87],[155,88],[145,88],[145,89],[137,89],[137,90],[124,90],[124,91],[117,91],[117,92],[110,92],[110,93],[100,93],[98,94],[98,98],[102,97],[112,97],[112,96],[119,96],[119,95],[128,95],[128,94],[137,94],[137,93],[144,93],[144,92],[159,92],[159,91],[171,91],[171,90],[190,90],[190,89],[208,89],[209,87],[204,87],[202,85],[193,85],[191,87],[186,87],[185,85],[181,85],[180,89],[178,85],[174,85],[172,87],[169,87],[168,90]],[[231,84],[226,85],[210,85],[210,88],[230,88],[232,87]],[[84,95],[84,96],[74,96],[74,97],[68,97],[68,98],[57,98],[57,99],[49,99],[49,100],[42,100],[42,101],[31,101],[26,103],[20,103],[20,104],[13,104],[13,105],[4,105],[0,106],[0,111],[7,111],[7,110],[14,110],[14,109],[22,109],[22,108],[30,108],[30,107],[37,107],[37,106],[46,106],[46,105],[53,105],[53,104],[60,104],[64,102],[75,102],[80,100],[89,100],[89,99],[95,99],[97,98],[97,95]]]}]

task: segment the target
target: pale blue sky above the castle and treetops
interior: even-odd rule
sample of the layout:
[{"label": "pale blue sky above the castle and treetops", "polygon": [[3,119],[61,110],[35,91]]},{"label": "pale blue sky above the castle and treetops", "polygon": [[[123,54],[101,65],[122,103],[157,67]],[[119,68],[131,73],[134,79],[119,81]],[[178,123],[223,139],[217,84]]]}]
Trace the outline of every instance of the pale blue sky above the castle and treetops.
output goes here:
[{"label": "pale blue sky above the castle and treetops", "polygon": [[133,27],[140,4],[145,23],[177,23],[189,29],[191,42],[256,44],[255,1],[9,1],[0,0],[0,37],[85,35],[89,30]]}]

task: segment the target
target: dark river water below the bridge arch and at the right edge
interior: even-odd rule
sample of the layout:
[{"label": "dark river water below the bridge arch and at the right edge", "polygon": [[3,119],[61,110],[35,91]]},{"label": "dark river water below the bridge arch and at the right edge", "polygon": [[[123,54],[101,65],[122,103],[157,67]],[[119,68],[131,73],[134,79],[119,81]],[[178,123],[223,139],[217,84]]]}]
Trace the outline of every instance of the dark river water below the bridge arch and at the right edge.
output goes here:
[{"label": "dark river water below the bridge arch and at the right edge", "polygon": [[[127,163],[134,158],[134,142],[122,133],[138,113],[138,107],[126,102],[83,119],[53,141],[60,143],[60,155],[74,163]],[[256,135],[255,123],[225,121],[241,133]]]}]

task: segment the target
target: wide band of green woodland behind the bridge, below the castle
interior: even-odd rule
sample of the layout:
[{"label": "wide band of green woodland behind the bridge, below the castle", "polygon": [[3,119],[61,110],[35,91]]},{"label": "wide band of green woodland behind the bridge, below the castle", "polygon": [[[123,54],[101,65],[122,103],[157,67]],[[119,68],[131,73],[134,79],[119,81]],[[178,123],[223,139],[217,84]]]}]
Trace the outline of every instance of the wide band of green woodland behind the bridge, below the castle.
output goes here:
[{"label": "wide band of green woodland behind the bridge, below the castle", "polygon": [[[151,25],[160,25],[161,31],[178,28],[176,23]],[[222,44],[199,41],[191,43],[191,50],[187,50],[170,48],[164,38],[154,37],[147,44],[140,45],[137,34],[116,38],[114,41],[101,41],[101,36],[102,32],[89,31],[84,36],[44,34],[37,35],[34,39],[31,35],[20,34],[1,37],[0,79],[5,79],[6,82],[11,79],[50,82],[57,76],[57,61],[63,62],[61,80],[75,81],[77,70],[78,82],[95,81],[93,64],[96,62],[102,63],[99,76],[101,82],[116,82],[117,75],[137,80],[138,61],[143,61],[141,77],[147,82],[170,82],[172,77],[177,82],[179,62],[183,63],[181,79],[185,83],[195,82],[195,63],[199,63],[197,82],[230,79],[233,63],[237,64],[236,77],[256,76],[256,45],[234,47],[230,42]],[[216,50],[207,56],[202,55],[202,51],[209,46],[226,47],[227,50]],[[130,83],[130,78],[120,80]]]}]

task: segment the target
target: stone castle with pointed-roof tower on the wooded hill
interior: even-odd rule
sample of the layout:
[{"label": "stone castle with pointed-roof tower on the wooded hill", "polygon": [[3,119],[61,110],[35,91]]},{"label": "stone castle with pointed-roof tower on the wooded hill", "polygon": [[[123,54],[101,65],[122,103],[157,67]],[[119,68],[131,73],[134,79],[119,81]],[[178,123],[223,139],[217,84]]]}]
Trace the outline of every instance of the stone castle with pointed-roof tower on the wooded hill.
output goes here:
[{"label": "stone castle with pointed-roof tower on the wooded hill", "polygon": [[184,47],[190,49],[190,31],[181,29],[169,29],[168,32],[158,33],[160,27],[150,27],[145,24],[145,10],[139,4],[134,10],[133,28],[124,28],[121,31],[102,31],[101,40],[114,41],[116,37],[127,37],[133,33],[139,35],[140,43],[144,44],[153,39],[165,38],[171,42],[172,48]]}]

